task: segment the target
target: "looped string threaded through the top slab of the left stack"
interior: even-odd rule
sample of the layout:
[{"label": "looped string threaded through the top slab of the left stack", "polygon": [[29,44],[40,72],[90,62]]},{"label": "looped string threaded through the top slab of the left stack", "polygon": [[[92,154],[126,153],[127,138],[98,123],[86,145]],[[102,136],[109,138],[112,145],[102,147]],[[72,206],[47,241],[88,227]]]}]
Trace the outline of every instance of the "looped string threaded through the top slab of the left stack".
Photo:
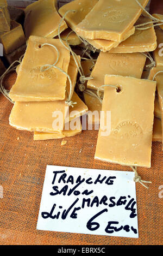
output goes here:
[{"label": "looped string threaded through the top slab of the left stack", "polygon": [[[65,103],[66,103],[68,106],[72,106],[72,108],[73,108],[73,105],[74,105],[74,104],[77,104],[77,103],[76,103],[76,102],[72,102],[72,100],[71,100],[72,81],[71,81],[70,75],[68,75],[64,70],[62,70],[61,68],[59,68],[59,67],[56,66],[56,64],[57,64],[57,62],[58,62],[58,60],[59,60],[59,51],[58,51],[57,47],[54,46],[54,45],[52,45],[52,44],[45,43],[45,44],[42,44],[42,45],[40,46],[40,48],[42,48],[42,47],[45,46],[45,45],[52,46],[52,47],[57,51],[57,60],[56,60],[56,61],[54,62],[54,64],[52,64],[52,65],[51,65],[51,64],[45,64],[45,65],[41,66],[40,70],[41,70],[41,72],[45,72],[46,70],[48,70],[48,69],[50,69],[50,68],[55,68],[55,69],[58,69],[61,73],[65,74],[65,75],[67,76],[67,78],[68,78],[68,80],[69,80],[69,82],[70,82],[70,93],[69,93],[68,99],[66,100]],[[45,67],[48,67],[48,68],[45,68]]]}]

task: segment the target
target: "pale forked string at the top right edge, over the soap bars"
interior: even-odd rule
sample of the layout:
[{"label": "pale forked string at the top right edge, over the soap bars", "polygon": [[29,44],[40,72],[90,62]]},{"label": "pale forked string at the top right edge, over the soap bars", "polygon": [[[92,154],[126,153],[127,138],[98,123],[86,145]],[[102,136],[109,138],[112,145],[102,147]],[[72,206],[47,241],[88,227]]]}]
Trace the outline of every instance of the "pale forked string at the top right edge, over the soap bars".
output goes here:
[{"label": "pale forked string at the top right edge, over the soap bars", "polygon": [[[135,0],[135,1],[136,1],[137,4],[139,4],[139,6],[141,7],[141,9],[142,9],[143,11],[145,11],[145,13],[147,13],[148,17],[151,17],[151,19],[153,20],[153,21],[149,21],[149,22],[145,22],[145,23],[136,25],[135,28],[136,28],[137,30],[146,30],[146,29],[149,29],[149,28],[152,28],[152,27],[155,27],[155,26],[163,25],[163,20],[160,20],[160,19],[158,19],[158,18],[153,17],[153,16],[152,16],[150,13],[148,13],[148,11],[139,3],[138,0]],[[161,22],[161,23],[159,23],[159,22]],[[152,23],[152,24],[153,24],[153,23],[156,23],[156,24],[153,24],[152,26],[148,26],[148,27],[143,27],[143,26],[149,25],[149,24],[151,24],[151,23]],[[143,27],[143,28],[141,28],[141,27]]]}]

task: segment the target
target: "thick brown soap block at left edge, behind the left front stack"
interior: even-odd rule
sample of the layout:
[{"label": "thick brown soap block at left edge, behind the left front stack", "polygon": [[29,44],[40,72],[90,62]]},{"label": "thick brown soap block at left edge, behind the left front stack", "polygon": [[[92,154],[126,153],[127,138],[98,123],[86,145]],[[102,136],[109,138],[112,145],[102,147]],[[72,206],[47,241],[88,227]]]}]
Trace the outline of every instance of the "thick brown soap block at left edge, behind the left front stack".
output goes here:
[{"label": "thick brown soap block at left edge, behind the left front stack", "polygon": [[0,42],[3,44],[3,50],[6,54],[25,44],[26,39],[21,24],[11,20],[11,30],[0,33]]}]

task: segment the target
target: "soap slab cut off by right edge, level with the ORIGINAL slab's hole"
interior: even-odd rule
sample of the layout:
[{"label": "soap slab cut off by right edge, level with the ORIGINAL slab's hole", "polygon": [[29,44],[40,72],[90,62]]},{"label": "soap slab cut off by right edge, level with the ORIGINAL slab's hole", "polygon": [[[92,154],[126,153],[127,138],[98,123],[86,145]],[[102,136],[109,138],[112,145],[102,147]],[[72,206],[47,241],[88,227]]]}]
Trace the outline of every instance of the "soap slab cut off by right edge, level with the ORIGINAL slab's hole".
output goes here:
[{"label": "soap slab cut off by right edge, level with the ORIGINAL slab's hole", "polygon": [[[154,75],[159,71],[163,72],[163,68],[162,67],[152,68],[149,74],[149,79],[153,80]],[[157,83],[158,100],[159,100],[159,107],[161,111],[161,123],[163,127],[163,73],[159,73],[158,75],[156,75],[155,80]],[[163,129],[162,129],[162,135],[163,135]],[[162,142],[163,142],[163,136],[162,136]],[[163,144],[162,144],[162,150],[163,150]]]}]

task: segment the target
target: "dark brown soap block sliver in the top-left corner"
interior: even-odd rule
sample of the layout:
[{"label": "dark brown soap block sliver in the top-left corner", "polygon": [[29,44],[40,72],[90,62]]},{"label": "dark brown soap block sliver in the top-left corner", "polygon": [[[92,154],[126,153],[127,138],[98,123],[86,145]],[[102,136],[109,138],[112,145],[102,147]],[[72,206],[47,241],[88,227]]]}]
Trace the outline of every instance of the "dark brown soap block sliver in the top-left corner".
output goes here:
[{"label": "dark brown soap block sliver in the top-left corner", "polygon": [[10,14],[7,0],[0,0],[0,33],[10,31]]}]

